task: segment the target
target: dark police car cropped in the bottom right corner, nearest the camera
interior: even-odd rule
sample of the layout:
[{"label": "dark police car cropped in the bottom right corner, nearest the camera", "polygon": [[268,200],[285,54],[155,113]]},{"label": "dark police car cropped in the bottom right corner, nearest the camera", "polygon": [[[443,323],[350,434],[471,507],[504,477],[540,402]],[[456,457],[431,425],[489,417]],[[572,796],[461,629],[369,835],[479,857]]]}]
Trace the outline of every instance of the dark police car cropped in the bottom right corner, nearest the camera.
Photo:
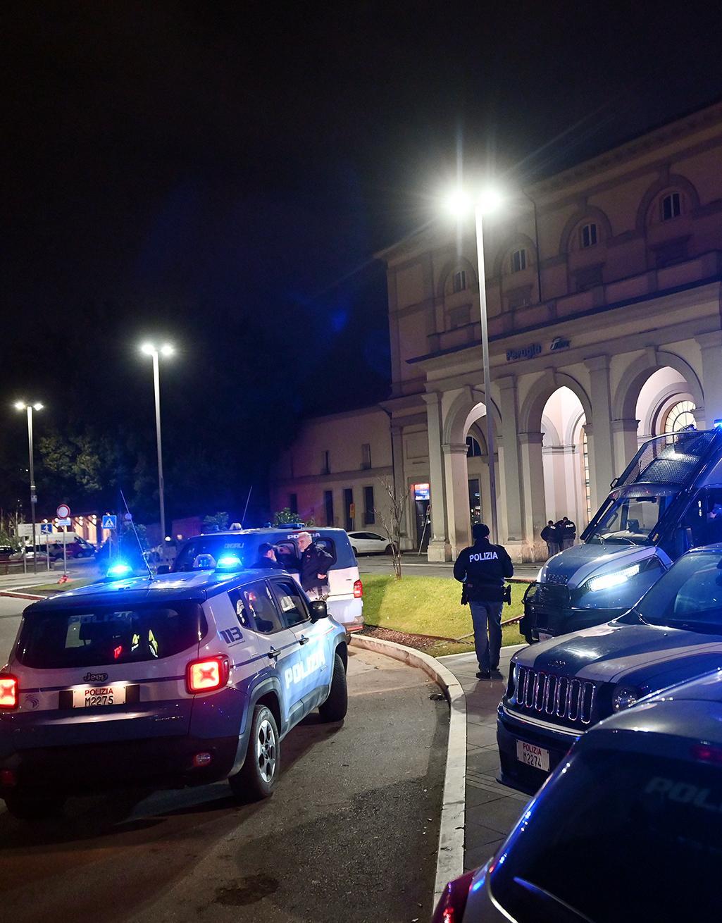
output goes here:
[{"label": "dark police car cropped in the bottom right corner, nearest the camera", "polygon": [[666,689],[574,745],[434,923],[719,918],[722,672]]}]

